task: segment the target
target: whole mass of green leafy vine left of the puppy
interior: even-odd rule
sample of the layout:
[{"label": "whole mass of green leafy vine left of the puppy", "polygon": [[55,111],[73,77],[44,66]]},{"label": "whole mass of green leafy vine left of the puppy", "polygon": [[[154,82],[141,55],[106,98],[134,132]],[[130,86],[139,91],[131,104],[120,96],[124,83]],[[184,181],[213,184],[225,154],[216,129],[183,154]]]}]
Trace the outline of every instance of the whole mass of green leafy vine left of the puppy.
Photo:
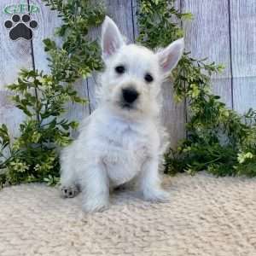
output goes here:
[{"label": "whole mass of green leafy vine left of the puppy", "polygon": [[72,141],[70,131],[78,123],[63,118],[67,102],[86,103],[73,83],[102,68],[99,47],[89,37],[90,28],[104,18],[101,4],[90,1],[44,0],[62,20],[56,35],[61,45],[44,39],[50,74],[21,70],[8,86],[12,101],[24,113],[20,136],[11,139],[6,125],[0,127],[0,185],[59,181],[59,148]]}]

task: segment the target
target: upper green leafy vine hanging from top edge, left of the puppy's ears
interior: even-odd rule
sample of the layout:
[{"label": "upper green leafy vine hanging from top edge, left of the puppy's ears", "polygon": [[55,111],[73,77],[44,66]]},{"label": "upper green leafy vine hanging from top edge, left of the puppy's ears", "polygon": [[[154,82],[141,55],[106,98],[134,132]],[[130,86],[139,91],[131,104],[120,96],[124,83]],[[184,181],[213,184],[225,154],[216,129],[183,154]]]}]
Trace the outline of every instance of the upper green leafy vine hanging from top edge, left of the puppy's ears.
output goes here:
[{"label": "upper green leafy vine hanging from top edge, left of the puppy's ears", "polygon": [[105,17],[101,2],[88,0],[43,0],[51,10],[56,10],[62,20],[56,29],[62,44],[58,47],[49,38],[44,40],[49,53],[52,76],[67,83],[86,78],[94,70],[102,68],[100,49],[89,35],[90,28],[99,26]]}]

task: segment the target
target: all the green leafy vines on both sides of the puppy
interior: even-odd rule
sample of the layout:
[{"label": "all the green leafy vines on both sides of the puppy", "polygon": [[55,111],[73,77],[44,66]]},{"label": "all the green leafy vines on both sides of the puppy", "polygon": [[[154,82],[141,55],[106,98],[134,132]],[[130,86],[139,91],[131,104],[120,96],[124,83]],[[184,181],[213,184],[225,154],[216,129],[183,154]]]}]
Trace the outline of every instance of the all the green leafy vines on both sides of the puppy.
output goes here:
[{"label": "all the green leafy vines on both sides of the puppy", "polygon": [[[104,7],[89,0],[43,0],[56,10],[62,25],[55,41],[44,39],[50,73],[21,70],[15,84],[8,86],[15,106],[26,115],[20,136],[10,139],[6,125],[0,127],[0,185],[23,182],[55,184],[59,179],[59,148],[72,141],[70,130],[78,123],[61,118],[67,102],[85,103],[73,88],[79,78],[102,69],[91,27],[104,19]],[[154,49],[181,38],[180,20],[190,20],[174,8],[175,0],[139,0],[137,41]],[[173,21],[174,20],[174,21]],[[188,137],[165,157],[166,172],[195,173],[207,170],[218,176],[256,176],[256,111],[244,116],[226,108],[211,92],[212,73],[224,67],[196,60],[185,53],[173,71],[177,102],[189,106]]]}]

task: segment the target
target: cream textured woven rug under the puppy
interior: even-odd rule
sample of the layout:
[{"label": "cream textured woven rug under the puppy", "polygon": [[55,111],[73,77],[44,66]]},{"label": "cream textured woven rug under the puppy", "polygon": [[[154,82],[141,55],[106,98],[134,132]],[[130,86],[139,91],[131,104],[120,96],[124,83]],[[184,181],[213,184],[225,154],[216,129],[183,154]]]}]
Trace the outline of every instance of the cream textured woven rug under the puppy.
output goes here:
[{"label": "cream textured woven rug under the puppy", "polygon": [[84,214],[80,195],[29,184],[0,191],[0,255],[255,256],[256,179],[201,173],[166,179],[170,202],[115,192]]}]

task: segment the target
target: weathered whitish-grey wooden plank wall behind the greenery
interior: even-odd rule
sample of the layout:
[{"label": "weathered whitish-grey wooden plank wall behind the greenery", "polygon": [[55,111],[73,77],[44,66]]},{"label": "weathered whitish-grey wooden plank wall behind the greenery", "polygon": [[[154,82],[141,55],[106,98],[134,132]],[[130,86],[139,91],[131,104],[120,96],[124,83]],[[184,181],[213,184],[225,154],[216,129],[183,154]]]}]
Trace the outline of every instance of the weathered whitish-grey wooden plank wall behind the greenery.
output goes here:
[{"label": "weathered whitish-grey wooden plank wall behind the greenery", "polygon": [[[22,119],[22,114],[9,102],[6,84],[17,78],[21,67],[48,70],[42,40],[53,37],[55,27],[60,24],[57,15],[40,0],[27,0],[39,6],[40,11],[32,15],[38,21],[32,41],[11,41],[9,31],[3,26],[11,15],[0,16],[0,123],[7,123],[13,135]],[[1,0],[0,9],[20,0]],[[23,1],[24,3],[24,1]],[[130,42],[137,37],[137,1],[105,0],[108,15],[118,24]],[[255,0],[177,0],[177,8],[195,15],[192,22],[183,23],[186,31],[186,49],[195,57],[208,56],[210,61],[225,65],[224,73],[212,77],[213,90],[230,108],[245,113],[256,108],[256,1]],[[99,37],[100,30],[92,32]],[[95,106],[95,78],[75,84],[82,96],[89,97],[85,107],[70,104],[68,116],[81,119],[89,115]],[[184,137],[187,116],[185,102],[177,105],[172,100],[172,84],[163,84],[165,104],[163,120],[168,127],[172,145]]]}]

